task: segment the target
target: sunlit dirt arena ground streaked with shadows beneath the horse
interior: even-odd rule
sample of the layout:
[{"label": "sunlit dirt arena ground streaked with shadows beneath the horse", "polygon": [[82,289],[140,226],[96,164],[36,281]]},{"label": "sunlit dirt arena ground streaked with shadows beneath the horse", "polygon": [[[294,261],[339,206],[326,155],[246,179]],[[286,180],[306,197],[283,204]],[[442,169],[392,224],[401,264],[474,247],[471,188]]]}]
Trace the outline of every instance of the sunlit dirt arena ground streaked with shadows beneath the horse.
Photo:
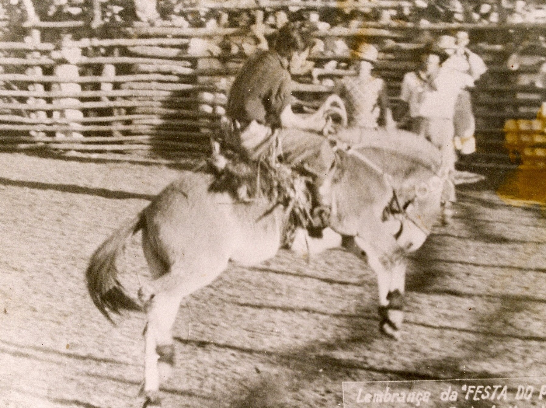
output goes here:
[{"label": "sunlit dirt arena ground streaked with shadows beneath the horse", "polygon": [[[96,247],[179,170],[0,154],[0,406],[140,406],[144,315],[88,297]],[[378,331],[370,269],[339,250],[230,267],[181,306],[164,407],[335,407],[343,381],[546,376],[546,220],[459,191],[411,260],[406,325]],[[140,235],[123,281],[146,279]]]}]

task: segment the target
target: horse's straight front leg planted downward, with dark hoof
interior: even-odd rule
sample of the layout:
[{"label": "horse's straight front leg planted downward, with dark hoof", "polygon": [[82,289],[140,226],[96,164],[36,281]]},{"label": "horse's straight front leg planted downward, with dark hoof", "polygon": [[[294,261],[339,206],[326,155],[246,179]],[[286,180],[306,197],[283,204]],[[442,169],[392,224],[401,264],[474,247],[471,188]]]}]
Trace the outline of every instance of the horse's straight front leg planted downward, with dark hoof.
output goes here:
[{"label": "horse's straight front leg planted downward, with dark hoof", "polygon": [[376,245],[360,237],[354,243],[365,252],[366,261],[377,276],[379,292],[379,328],[384,334],[400,339],[403,321],[403,293],[406,265],[396,252],[379,251]]}]

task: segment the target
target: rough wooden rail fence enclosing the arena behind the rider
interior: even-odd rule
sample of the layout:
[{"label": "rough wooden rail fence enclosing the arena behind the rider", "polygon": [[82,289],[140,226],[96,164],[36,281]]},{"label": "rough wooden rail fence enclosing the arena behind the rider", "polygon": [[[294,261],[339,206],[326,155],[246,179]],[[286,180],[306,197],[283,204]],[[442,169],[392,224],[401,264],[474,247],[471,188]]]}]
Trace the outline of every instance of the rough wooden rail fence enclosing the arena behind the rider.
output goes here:
[{"label": "rough wooden rail fence enclosing the arena behind the rider", "polygon": [[[403,2],[236,1],[205,7],[324,10],[394,3],[400,7]],[[252,37],[250,29],[176,27],[174,22],[108,25],[100,22],[99,11],[91,23],[29,20],[23,24],[27,31],[23,42],[0,42],[0,150],[145,151],[169,157],[206,152],[211,135],[218,131],[230,82],[246,58],[241,45]],[[9,33],[9,24],[4,26]],[[541,73],[546,52],[533,50],[535,59],[524,58],[517,69],[507,65],[514,51],[507,45],[511,38],[520,38],[519,33],[532,38],[543,27],[529,23],[426,27],[433,33],[469,31],[471,48],[488,64],[488,73],[473,91],[478,143],[474,162],[507,162],[505,120],[535,119],[546,100]],[[66,36],[80,29],[89,35],[78,40]],[[380,50],[376,74],[387,81],[395,104],[403,74],[416,68],[423,31],[410,24],[363,22],[357,28],[333,27],[314,35],[323,44],[335,45],[337,39],[376,44]],[[232,46],[226,49],[225,44]],[[348,50],[327,47],[313,52],[309,60],[314,67],[326,68],[318,81],[310,72],[293,75],[296,105],[302,110],[321,103],[331,91],[331,79],[354,75]]]}]

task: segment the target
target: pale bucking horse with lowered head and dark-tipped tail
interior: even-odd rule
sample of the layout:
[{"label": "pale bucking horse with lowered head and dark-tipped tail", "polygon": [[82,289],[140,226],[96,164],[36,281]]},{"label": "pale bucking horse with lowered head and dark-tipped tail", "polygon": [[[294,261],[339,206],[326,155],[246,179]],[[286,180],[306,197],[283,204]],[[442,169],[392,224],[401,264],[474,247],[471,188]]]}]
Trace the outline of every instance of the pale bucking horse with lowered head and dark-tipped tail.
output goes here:
[{"label": "pale bucking horse with lowered head and dark-tipped tail", "polygon": [[[332,164],[319,191],[330,204],[329,228],[320,239],[300,226],[290,247],[312,253],[341,246],[365,259],[377,275],[380,328],[398,338],[407,253],[424,243],[441,212],[447,178],[440,152],[396,129],[345,128],[328,145]],[[171,329],[182,299],[230,262],[250,266],[274,257],[293,219],[294,200],[274,198],[267,182],[260,188],[269,192],[240,200],[211,188],[217,179],[213,171],[183,172],[106,239],[88,265],[88,290],[106,317],[123,309],[147,313],[145,407],[161,405],[159,382],[174,363]],[[125,241],[139,230],[154,288],[144,308],[126,293],[116,269]]]}]

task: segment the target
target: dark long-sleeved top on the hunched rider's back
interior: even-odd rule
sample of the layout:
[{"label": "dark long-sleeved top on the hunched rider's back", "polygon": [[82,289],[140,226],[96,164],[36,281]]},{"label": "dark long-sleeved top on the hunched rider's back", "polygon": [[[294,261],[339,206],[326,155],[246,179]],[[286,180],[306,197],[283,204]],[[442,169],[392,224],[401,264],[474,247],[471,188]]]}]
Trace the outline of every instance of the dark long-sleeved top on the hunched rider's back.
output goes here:
[{"label": "dark long-sleeved top on the hunched rider's back", "polygon": [[245,62],[229,92],[226,115],[245,128],[252,121],[280,127],[292,100],[288,62],[275,51],[259,50]]}]

